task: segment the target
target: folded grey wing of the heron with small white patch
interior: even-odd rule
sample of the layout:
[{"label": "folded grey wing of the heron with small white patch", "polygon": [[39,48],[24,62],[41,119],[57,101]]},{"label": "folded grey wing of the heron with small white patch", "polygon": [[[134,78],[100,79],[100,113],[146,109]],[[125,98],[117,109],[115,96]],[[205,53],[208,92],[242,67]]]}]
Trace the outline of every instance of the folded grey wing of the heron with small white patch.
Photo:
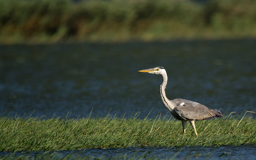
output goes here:
[{"label": "folded grey wing of the heron with small white patch", "polygon": [[200,103],[177,99],[177,106],[174,108],[176,114],[185,120],[206,120],[223,117],[220,111],[210,109]]}]

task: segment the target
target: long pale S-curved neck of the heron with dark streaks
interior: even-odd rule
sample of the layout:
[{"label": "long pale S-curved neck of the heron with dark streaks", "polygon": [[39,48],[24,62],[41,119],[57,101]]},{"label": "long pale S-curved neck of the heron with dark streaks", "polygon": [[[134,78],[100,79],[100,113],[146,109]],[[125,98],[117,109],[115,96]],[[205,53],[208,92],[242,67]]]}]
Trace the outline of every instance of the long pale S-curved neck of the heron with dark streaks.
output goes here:
[{"label": "long pale S-curved neck of the heron with dark streaks", "polygon": [[165,107],[169,110],[172,111],[175,107],[174,103],[171,102],[165,95],[165,87],[167,85],[167,75],[163,74],[163,82],[162,85],[160,86],[160,95],[163,101],[163,104],[165,105]]}]

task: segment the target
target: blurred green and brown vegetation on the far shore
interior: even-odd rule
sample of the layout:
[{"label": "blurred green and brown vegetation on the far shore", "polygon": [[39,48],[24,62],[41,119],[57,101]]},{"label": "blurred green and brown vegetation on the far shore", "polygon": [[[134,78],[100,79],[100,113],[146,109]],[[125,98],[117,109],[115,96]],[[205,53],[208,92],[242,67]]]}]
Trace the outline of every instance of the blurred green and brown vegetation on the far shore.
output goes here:
[{"label": "blurred green and brown vegetation on the far shore", "polygon": [[0,44],[256,38],[256,1],[0,0]]}]

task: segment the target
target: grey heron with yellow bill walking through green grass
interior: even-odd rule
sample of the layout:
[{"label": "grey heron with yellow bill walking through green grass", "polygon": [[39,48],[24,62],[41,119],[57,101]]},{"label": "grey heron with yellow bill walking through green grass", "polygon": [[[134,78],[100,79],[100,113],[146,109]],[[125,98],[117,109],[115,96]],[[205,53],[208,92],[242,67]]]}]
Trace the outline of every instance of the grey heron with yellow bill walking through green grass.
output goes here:
[{"label": "grey heron with yellow bill walking through green grass", "polygon": [[223,117],[221,112],[216,109],[210,109],[200,103],[188,101],[185,99],[173,99],[170,101],[165,95],[165,87],[167,84],[167,74],[163,67],[155,67],[152,69],[144,69],[139,72],[148,72],[152,74],[160,74],[163,76],[163,82],[160,86],[160,95],[165,107],[171,112],[173,117],[182,123],[182,128],[185,133],[186,125],[189,121],[196,135],[196,127],[194,121],[215,119]]}]

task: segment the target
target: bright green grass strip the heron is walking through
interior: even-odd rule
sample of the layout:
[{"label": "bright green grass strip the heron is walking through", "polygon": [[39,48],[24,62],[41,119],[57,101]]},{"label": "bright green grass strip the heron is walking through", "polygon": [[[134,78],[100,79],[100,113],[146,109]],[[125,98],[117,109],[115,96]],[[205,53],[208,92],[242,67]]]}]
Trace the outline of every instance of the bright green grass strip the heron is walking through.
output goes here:
[{"label": "bright green grass strip the heron is walking through", "polygon": [[0,151],[76,150],[79,148],[136,146],[220,146],[256,143],[256,123],[250,117],[198,121],[182,134],[180,121],[96,117],[82,119],[0,118]]}]

